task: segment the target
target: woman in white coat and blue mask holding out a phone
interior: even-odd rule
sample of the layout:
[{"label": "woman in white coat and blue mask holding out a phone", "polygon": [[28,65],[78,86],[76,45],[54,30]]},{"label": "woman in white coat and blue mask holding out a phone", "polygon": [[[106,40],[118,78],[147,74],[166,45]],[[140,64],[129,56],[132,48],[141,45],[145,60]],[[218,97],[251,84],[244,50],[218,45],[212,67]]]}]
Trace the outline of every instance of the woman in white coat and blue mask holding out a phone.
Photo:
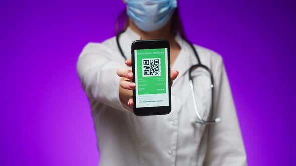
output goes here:
[{"label": "woman in white coat and blue mask holding out a phone", "polygon": [[[213,72],[211,112],[209,75],[195,69],[196,102],[204,119],[197,123],[189,87],[189,68],[197,64],[185,38],[176,0],[125,0],[129,19],[125,32],[103,43],[89,43],[79,56],[77,69],[94,119],[100,165],[246,165],[246,154],[222,58],[194,45],[200,61]],[[180,33],[180,34],[179,34]],[[181,35],[181,36],[180,36]],[[139,39],[170,41],[172,111],[168,115],[132,113],[131,43]],[[124,63],[126,65],[124,65]],[[129,67],[128,67],[129,66]],[[178,70],[178,71],[177,71]]]}]

